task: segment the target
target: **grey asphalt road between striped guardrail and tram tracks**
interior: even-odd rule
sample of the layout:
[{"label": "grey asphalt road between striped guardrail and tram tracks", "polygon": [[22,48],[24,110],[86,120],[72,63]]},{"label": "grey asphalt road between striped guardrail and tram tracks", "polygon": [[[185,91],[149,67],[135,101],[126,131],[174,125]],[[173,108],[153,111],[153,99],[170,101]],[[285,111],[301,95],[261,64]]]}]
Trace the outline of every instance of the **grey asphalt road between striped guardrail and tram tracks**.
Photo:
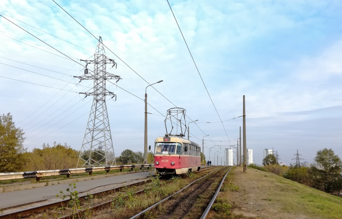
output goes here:
[{"label": "grey asphalt road between striped guardrail and tram tracks", "polygon": [[[87,191],[101,191],[110,188],[115,188],[118,183],[130,182],[137,179],[143,179],[149,176],[150,172],[137,172],[137,173],[129,173],[119,176],[105,177],[101,179],[93,179],[76,183],[76,191],[81,193],[87,193]],[[20,191],[13,192],[4,192],[0,193],[0,209],[8,208],[17,205],[24,205],[32,202],[39,201],[56,201],[56,194],[60,194],[60,191],[65,191],[68,187],[68,183],[56,184],[56,185],[48,185],[44,187],[34,188],[34,189],[26,189]]]}]

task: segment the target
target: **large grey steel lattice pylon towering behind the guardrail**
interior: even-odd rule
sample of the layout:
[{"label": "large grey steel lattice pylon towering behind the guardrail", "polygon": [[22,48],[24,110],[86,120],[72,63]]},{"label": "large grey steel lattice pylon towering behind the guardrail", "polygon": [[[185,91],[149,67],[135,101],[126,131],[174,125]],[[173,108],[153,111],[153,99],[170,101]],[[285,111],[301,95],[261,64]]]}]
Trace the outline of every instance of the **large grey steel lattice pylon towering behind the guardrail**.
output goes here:
[{"label": "large grey steel lattice pylon towering behind the guardrail", "polygon": [[[105,54],[102,38],[98,39],[94,60],[81,60],[86,62],[84,75],[74,76],[81,80],[94,80],[94,88],[91,92],[80,93],[87,96],[93,96],[93,104],[88,119],[86,133],[78,157],[77,167],[96,167],[113,166],[116,164],[113,141],[111,139],[106,96],[110,95],[113,99],[116,94],[106,89],[106,80],[120,80],[120,76],[106,72],[106,64],[116,67],[117,63],[108,59]],[[88,72],[88,64],[94,64],[94,72]]]}]

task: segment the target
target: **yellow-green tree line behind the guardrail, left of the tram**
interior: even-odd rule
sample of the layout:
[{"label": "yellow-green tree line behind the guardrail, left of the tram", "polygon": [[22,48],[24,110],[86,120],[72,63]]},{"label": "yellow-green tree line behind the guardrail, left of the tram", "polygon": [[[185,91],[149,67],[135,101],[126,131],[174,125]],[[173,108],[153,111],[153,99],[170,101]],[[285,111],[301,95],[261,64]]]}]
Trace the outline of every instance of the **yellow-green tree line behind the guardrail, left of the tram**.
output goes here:
[{"label": "yellow-green tree line behind the guardrail, left of the tram", "polygon": [[[19,172],[76,168],[80,151],[67,143],[43,144],[42,149],[27,151],[23,146],[23,129],[16,128],[12,115],[0,115],[0,172]],[[95,153],[101,156],[101,153]],[[86,158],[86,157],[85,157]],[[101,160],[101,157],[92,157]],[[143,164],[143,153],[124,150],[116,157],[117,165]],[[153,163],[153,154],[148,154],[148,163]]]}]

